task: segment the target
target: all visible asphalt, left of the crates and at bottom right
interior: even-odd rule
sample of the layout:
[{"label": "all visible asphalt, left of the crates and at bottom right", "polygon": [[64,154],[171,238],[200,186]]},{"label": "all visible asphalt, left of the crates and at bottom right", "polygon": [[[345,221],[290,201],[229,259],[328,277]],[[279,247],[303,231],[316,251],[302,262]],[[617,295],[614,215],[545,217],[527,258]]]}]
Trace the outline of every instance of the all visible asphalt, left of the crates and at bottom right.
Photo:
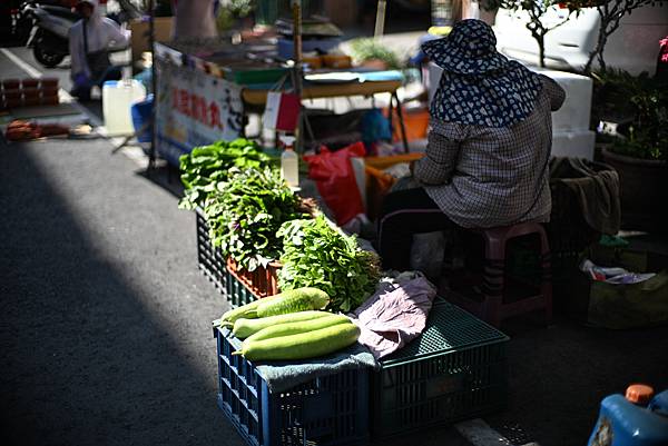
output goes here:
[{"label": "all visible asphalt, left of the crates and at bottom right", "polygon": [[[23,49],[12,52],[35,65]],[[49,75],[65,76],[66,69]],[[0,54],[0,78],[24,76]],[[3,445],[240,445],[216,407],[195,218],[106,140],[0,145]],[[668,328],[509,326],[513,444],[583,445],[605,396],[668,388]],[[452,428],[386,445],[466,445]],[[503,443],[498,443],[503,444]]]}]

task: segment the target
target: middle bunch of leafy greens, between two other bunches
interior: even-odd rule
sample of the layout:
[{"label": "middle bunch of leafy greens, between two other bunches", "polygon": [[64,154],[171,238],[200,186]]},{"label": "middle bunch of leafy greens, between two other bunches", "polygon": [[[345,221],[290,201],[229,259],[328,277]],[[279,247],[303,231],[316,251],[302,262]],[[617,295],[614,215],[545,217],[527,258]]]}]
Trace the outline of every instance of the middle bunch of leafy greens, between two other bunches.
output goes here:
[{"label": "middle bunch of leafy greens, between two other bunches", "polygon": [[214,246],[249,271],[278,258],[282,224],[305,218],[299,197],[269,167],[230,168],[227,180],[208,194],[204,214]]}]

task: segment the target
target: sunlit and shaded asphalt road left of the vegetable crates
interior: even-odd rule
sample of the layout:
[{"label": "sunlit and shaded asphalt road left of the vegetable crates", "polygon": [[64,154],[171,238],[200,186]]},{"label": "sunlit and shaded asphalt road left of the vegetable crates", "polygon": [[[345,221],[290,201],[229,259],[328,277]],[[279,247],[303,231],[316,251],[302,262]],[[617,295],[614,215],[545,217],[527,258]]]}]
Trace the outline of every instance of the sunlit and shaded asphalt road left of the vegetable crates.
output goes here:
[{"label": "sunlit and shaded asphalt road left of the vegetable crates", "polygon": [[216,405],[210,321],[228,307],[197,268],[195,216],[111,147],[0,139],[2,445],[242,445]]}]

